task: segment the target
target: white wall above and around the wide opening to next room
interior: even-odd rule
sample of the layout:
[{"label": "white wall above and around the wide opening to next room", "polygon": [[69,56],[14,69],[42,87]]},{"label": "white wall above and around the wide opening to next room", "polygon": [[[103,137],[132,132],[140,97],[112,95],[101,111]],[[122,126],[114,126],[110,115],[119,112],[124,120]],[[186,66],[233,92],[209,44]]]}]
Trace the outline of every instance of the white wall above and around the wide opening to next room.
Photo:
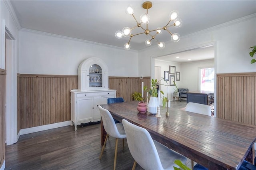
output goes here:
[{"label": "white wall above and around the wide opening to next room", "polygon": [[[181,35],[182,36],[182,35]],[[139,51],[139,73],[150,76],[150,57],[158,57],[193,49],[216,42],[216,73],[256,72],[250,64],[249,47],[256,44],[256,14],[240,18],[225,25],[181,37],[177,43],[166,43],[162,50],[157,46]],[[146,62],[144,62],[146,61]]]}]

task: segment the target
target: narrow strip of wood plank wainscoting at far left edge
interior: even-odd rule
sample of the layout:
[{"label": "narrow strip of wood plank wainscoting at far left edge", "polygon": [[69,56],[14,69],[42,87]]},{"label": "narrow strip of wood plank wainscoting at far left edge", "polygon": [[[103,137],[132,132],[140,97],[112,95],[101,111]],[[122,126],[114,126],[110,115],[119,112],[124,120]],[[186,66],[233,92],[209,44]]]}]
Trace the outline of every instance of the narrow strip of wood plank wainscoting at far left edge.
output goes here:
[{"label": "narrow strip of wood plank wainscoting at far left edge", "polygon": [[5,85],[6,70],[0,69],[0,168],[5,160]]}]

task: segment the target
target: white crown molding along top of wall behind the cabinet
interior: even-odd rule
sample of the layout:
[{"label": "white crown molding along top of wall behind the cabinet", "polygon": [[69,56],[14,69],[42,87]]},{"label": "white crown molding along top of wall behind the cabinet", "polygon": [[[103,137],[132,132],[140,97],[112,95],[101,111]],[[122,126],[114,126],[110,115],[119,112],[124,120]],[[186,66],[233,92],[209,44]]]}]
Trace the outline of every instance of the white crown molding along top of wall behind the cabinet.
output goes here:
[{"label": "white crown molding along top of wall behind the cabinet", "polygon": [[[104,44],[104,43],[91,42],[91,41],[82,40],[82,39],[79,39],[79,38],[72,38],[72,37],[67,37],[67,36],[61,36],[61,35],[58,35],[58,34],[51,34],[51,33],[42,32],[42,31],[30,30],[30,29],[27,29],[27,28],[21,28],[20,31],[22,31],[22,32],[31,32],[31,33],[34,33],[34,34],[41,34],[41,35],[57,37],[57,38],[64,38],[64,39],[68,39],[68,40],[74,40],[74,41],[79,41],[79,42],[90,43],[90,44],[100,45],[100,46],[104,46],[104,47],[110,47],[110,48],[114,48],[114,49],[124,50],[124,48],[116,47],[114,45],[108,45],[108,44]],[[124,51],[126,51],[126,50],[124,50]],[[137,50],[129,50],[129,51],[138,52]]]}]

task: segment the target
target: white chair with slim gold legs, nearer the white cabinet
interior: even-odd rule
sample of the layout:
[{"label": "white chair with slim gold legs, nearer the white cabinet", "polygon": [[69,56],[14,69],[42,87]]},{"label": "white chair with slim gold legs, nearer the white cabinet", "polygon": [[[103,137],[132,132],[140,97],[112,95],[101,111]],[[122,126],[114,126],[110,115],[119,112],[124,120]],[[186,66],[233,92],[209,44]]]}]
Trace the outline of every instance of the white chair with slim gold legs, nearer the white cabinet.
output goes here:
[{"label": "white chair with slim gold legs, nearer the white cabinet", "polygon": [[118,146],[118,138],[123,139],[123,149],[124,149],[124,138],[126,138],[126,134],[124,131],[124,127],[122,123],[115,123],[112,115],[107,109],[102,108],[100,105],[98,106],[100,110],[100,115],[103,121],[104,128],[106,130],[107,136],[105,138],[100,158],[102,157],[103,150],[106,146],[106,142],[109,136],[116,138],[116,149],[115,149],[115,157],[114,157],[114,170],[116,169],[116,156],[117,156],[117,146]]}]

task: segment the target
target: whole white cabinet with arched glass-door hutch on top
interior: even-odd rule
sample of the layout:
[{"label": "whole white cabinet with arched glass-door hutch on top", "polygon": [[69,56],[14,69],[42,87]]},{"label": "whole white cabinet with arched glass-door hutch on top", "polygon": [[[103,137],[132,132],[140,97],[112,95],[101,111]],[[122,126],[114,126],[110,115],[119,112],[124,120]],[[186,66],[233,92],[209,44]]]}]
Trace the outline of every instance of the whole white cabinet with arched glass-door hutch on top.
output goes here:
[{"label": "whole white cabinet with arched glass-door hutch on top", "polygon": [[91,57],[78,67],[78,89],[71,90],[71,126],[77,130],[81,123],[100,121],[98,105],[116,97],[108,89],[108,67],[102,59]]}]

